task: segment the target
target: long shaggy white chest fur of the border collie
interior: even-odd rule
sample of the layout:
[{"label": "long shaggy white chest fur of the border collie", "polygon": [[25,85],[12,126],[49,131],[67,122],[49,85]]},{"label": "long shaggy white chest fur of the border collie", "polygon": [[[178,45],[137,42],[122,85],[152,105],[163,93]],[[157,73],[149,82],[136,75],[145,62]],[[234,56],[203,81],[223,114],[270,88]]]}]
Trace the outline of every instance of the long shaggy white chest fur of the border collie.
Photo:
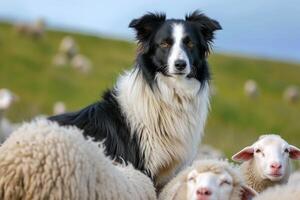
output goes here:
[{"label": "long shaggy white chest fur of the border collie", "polygon": [[196,152],[209,108],[209,86],[184,77],[156,76],[150,86],[138,70],[121,76],[116,90],[132,134],[141,139],[145,167],[156,185],[168,181]]}]

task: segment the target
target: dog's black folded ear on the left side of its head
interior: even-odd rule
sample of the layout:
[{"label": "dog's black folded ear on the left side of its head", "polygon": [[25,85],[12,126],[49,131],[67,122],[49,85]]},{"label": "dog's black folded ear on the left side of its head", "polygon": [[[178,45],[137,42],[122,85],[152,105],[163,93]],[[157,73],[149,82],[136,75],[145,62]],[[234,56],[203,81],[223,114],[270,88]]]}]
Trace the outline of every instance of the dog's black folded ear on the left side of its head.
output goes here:
[{"label": "dog's black folded ear on the left side of its head", "polygon": [[164,21],[164,13],[147,13],[144,16],[134,19],[130,22],[129,27],[136,31],[136,38],[139,42],[144,42]]}]

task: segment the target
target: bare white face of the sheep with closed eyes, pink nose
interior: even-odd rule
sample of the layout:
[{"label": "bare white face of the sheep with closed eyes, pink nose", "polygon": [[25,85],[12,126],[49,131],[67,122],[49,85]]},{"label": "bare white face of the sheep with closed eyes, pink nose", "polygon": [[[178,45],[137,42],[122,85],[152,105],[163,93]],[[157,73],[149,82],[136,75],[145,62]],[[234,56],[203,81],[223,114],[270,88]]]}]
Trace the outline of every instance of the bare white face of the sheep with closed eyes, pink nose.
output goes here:
[{"label": "bare white face of the sheep with closed eyes, pink nose", "polygon": [[228,200],[233,190],[233,180],[226,171],[221,173],[202,172],[196,170],[188,174],[188,200]]}]

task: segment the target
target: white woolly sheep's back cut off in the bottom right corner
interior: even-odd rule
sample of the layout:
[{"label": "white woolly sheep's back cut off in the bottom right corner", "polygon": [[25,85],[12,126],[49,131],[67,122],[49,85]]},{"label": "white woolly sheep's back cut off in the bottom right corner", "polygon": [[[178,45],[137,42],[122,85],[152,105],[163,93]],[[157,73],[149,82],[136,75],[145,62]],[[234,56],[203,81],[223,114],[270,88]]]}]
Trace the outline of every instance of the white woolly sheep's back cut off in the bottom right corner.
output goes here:
[{"label": "white woolly sheep's back cut off in the bottom right corner", "polygon": [[299,200],[300,184],[278,185],[260,193],[254,200]]}]

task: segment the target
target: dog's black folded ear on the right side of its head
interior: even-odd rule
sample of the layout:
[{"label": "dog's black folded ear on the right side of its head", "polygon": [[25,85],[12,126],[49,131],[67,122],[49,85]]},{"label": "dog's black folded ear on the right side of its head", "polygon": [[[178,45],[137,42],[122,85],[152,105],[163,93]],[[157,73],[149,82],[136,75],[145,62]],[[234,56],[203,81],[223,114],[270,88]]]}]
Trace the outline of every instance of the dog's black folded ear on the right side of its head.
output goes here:
[{"label": "dog's black folded ear on the right side of its head", "polygon": [[186,15],[185,20],[194,23],[207,42],[212,42],[214,39],[214,32],[222,29],[219,22],[207,17],[198,10]]}]

